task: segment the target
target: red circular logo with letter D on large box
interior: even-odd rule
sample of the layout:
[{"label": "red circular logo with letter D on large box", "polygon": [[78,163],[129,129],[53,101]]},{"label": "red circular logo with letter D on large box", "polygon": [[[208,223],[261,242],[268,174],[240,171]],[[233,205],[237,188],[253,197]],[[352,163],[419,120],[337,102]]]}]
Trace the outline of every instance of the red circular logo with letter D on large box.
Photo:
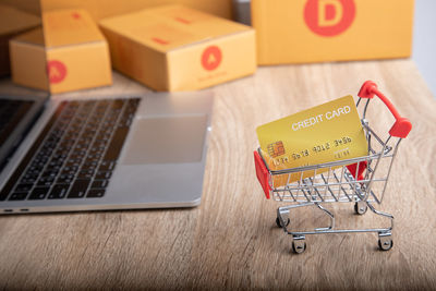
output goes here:
[{"label": "red circular logo with letter D on large box", "polygon": [[320,36],[337,36],[347,31],[355,17],[353,0],[308,0],[304,20]]}]

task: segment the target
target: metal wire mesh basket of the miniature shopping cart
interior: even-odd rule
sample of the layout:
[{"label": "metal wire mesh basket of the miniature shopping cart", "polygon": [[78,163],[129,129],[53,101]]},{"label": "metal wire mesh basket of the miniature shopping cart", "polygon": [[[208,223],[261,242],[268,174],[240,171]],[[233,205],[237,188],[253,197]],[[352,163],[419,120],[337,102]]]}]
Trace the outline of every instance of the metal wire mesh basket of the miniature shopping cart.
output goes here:
[{"label": "metal wire mesh basket of the miniature shopping cart", "polygon": [[[392,144],[390,137],[383,141],[366,120],[362,120],[362,124],[368,143],[367,156],[280,171],[268,169],[274,199],[289,203],[382,203],[399,141],[397,144]],[[258,153],[262,156],[262,151]],[[352,163],[356,163],[355,175],[347,167]],[[362,165],[366,166],[366,170],[364,177],[359,179],[359,167],[363,167]],[[307,178],[311,171],[313,174]],[[291,182],[295,180],[295,175],[300,179]]]}]

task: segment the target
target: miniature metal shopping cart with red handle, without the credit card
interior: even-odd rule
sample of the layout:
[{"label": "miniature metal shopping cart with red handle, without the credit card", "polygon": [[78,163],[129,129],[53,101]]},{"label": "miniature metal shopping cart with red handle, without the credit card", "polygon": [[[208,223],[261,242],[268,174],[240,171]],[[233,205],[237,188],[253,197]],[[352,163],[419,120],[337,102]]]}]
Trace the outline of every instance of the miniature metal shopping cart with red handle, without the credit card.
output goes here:
[{"label": "miniature metal shopping cart with red handle, without the credit card", "polygon": [[[365,119],[370,101],[375,95],[382,99],[396,119],[385,141],[374,132]],[[373,203],[380,204],[383,202],[398,146],[401,140],[408,136],[412,124],[408,119],[400,117],[393,105],[377,89],[375,83],[365,82],[358,96],[356,107],[358,109],[363,107],[361,122],[368,143],[367,156],[274,171],[269,169],[261,148],[254,151],[256,175],[266,197],[272,196],[275,201],[286,204],[277,209],[276,223],[292,235],[292,251],[295,253],[303,253],[306,250],[305,235],[320,233],[377,232],[380,250],[388,251],[393,245],[391,238],[393,216],[376,210]],[[366,99],[366,102],[362,102],[362,99]],[[310,171],[313,171],[313,174],[306,178],[306,173]],[[298,181],[292,179],[291,182],[291,175],[295,177],[295,174],[300,179]],[[288,182],[283,185],[282,181]],[[389,227],[337,229],[334,214],[323,206],[325,203],[336,202],[354,203],[354,210],[358,215],[365,214],[370,208],[374,214],[389,219]],[[306,206],[315,206],[324,211],[330,218],[329,226],[313,230],[291,231],[289,228],[291,209]]]}]

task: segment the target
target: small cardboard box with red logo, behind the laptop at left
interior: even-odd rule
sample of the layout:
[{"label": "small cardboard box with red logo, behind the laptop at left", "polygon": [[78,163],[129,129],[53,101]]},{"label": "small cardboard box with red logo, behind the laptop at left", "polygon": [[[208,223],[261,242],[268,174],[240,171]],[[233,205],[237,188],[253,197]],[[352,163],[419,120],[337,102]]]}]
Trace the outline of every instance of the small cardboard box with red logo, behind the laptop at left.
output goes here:
[{"label": "small cardboard box with red logo, behind the laptop at left", "polygon": [[86,11],[51,11],[43,22],[44,36],[10,41],[13,82],[53,94],[111,84],[108,44]]}]

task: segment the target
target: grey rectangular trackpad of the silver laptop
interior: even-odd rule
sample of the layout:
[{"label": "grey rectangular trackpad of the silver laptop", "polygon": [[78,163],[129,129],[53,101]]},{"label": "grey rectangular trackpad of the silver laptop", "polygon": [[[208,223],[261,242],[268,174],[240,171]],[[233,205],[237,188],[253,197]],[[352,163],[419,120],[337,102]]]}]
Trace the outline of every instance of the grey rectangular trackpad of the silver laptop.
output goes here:
[{"label": "grey rectangular trackpad of the silver laptop", "polygon": [[123,165],[202,160],[207,116],[141,118],[125,144]]}]

